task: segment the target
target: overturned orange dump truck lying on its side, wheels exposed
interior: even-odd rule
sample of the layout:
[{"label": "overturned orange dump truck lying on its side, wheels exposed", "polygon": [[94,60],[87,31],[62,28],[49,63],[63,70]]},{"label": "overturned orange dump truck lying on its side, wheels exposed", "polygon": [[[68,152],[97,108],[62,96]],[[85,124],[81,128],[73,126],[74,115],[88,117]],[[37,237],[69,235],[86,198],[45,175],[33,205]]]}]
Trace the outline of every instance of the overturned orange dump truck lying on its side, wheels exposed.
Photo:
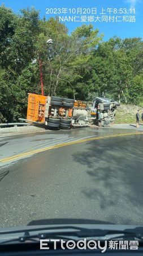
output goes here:
[{"label": "overturned orange dump truck lying on its side, wheels exposed", "polygon": [[96,97],[93,102],[28,94],[27,122],[43,123],[45,128],[71,129],[90,125],[109,126],[119,103]]}]

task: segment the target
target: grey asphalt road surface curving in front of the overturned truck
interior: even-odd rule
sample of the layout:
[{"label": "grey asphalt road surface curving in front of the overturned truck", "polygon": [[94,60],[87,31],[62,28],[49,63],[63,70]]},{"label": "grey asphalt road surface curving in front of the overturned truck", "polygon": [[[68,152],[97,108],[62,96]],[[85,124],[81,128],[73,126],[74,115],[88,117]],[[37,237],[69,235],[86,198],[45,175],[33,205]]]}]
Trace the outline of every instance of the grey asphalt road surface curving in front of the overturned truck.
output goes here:
[{"label": "grey asphalt road surface curving in front of the overturned truck", "polygon": [[[0,227],[57,219],[143,225],[143,134],[136,133],[88,128],[2,138]],[[65,142],[71,144],[23,155]]]}]

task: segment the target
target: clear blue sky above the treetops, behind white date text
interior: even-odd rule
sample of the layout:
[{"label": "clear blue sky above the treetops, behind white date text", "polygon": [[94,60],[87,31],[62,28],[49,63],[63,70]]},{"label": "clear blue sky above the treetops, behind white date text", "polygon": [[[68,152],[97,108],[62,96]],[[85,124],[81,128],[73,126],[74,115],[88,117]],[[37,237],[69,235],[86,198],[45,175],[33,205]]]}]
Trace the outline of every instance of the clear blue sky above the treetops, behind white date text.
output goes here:
[{"label": "clear blue sky above the treetops, behind white date text", "polygon": [[[77,8],[85,8],[92,9],[97,7],[97,15],[96,14],[82,14],[84,16],[101,16],[99,13],[102,11],[102,7],[105,11],[105,15],[109,17],[109,12],[107,12],[107,8],[117,9],[117,14],[112,14],[111,16],[120,16],[119,20],[122,19],[123,14],[119,14],[122,12],[122,9],[127,9],[127,14],[124,15],[132,15],[136,16],[136,22],[81,22],[81,15],[76,14],[76,18],[80,20],[80,22],[67,22],[64,23],[68,27],[69,33],[71,33],[77,26],[81,26],[81,24],[93,24],[94,28],[99,28],[99,33],[103,33],[104,40],[108,40],[112,36],[120,36],[121,38],[140,36],[143,38],[143,0],[0,0],[0,3],[4,3],[5,6],[10,7],[15,13],[18,13],[20,9],[24,9],[26,7],[34,6],[36,9],[40,10],[40,17],[43,18],[45,15],[46,19],[49,19],[54,14],[46,14],[47,9],[76,9]],[[129,9],[135,8],[135,14],[130,13]],[[84,11],[86,12],[86,10]],[[94,9],[95,10],[95,9]],[[133,12],[133,11],[132,11]],[[56,14],[55,14],[56,15]],[[75,14],[66,14],[67,16],[75,16]],[[60,16],[66,16],[65,14],[60,14]],[[87,20],[86,20],[87,21]]]}]

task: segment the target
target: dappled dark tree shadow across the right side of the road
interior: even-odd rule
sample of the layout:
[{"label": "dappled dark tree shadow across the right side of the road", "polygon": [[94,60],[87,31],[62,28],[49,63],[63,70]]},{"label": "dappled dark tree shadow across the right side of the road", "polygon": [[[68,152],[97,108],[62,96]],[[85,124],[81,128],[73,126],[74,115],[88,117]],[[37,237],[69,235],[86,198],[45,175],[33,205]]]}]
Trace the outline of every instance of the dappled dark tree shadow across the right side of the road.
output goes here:
[{"label": "dappled dark tree shadow across the right side of the road", "polygon": [[81,192],[89,200],[96,199],[102,210],[111,208],[110,212],[123,216],[123,224],[133,221],[129,214],[124,216],[125,212],[142,219],[142,143],[140,135],[110,138],[86,143],[86,150],[72,155],[75,162],[86,166],[91,180],[90,187],[87,185]]}]

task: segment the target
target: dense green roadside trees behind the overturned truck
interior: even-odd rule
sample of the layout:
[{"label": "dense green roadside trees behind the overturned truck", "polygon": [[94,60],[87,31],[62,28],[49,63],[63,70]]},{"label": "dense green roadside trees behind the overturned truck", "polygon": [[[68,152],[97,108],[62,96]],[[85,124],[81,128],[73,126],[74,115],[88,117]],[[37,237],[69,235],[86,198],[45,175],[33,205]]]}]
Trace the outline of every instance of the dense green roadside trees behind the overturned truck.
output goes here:
[{"label": "dense green roadside trees behind the overturned truck", "polygon": [[[34,9],[20,15],[0,7],[0,122],[25,117],[27,94],[41,93],[42,60],[45,95],[92,100],[98,94],[124,103],[143,102],[141,38],[103,42],[92,25],[71,35],[58,19],[40,19]],[[53,39],[48,45],[47,39]]]}]

